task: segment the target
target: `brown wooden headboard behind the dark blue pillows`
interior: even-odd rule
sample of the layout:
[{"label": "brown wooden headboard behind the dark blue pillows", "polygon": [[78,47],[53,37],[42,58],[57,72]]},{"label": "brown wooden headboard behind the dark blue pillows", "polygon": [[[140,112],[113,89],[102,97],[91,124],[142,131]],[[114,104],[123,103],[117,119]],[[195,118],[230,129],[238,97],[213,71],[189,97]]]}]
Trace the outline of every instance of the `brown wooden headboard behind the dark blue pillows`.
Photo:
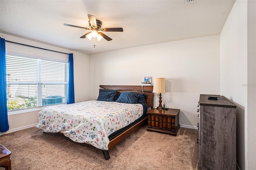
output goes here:
[{"label": "brown wooden headboard behind the dark blue pillows", "polygon": [[140,86],[140,85],[100,85],[100,87],[106,90],[117,90],[120,94],[124,91],[130,91],[130,92],[136,92],[136,93],[143,93],[147,95],[145,101],[148,107],[153,107],[154,105],[154,93],[153,91],[153,86]]}]

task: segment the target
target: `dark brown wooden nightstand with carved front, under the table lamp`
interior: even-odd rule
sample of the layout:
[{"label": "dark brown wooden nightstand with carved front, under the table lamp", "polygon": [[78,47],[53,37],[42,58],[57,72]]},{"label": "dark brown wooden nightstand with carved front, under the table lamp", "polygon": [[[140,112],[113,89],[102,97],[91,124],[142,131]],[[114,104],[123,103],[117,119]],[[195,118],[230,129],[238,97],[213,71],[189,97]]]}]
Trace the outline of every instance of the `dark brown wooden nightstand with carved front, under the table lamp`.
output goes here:
[{"label": "dark brown wooden nightstand with carved front, under the table lamp", "polygon": [[180,109],[158,110],[151,109],[148,114],[148,131],[177,135]]}]

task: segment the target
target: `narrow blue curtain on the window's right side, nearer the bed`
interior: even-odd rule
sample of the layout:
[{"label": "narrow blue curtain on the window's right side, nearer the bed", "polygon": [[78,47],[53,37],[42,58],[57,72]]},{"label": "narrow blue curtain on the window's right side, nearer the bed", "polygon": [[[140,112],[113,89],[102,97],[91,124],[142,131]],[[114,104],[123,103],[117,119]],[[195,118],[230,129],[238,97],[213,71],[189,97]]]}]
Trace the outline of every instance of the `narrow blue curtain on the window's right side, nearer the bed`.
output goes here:
[{"label": "narrow blue curtain on the window's right side, nearer the bed", "polygon": [[68,102],[67,104],[75,103],[74,92],[74,64],[73,54],[70,53],[68,57]]}]

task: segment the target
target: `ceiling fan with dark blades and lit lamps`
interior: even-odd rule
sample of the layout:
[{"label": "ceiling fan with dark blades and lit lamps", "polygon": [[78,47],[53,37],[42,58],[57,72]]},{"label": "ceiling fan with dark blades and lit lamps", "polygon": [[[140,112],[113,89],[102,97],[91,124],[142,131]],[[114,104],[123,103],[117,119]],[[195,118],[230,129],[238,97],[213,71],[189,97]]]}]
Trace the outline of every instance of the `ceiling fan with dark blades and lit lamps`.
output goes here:
[{"label": "ceiling fan with dark blades and lit lamps", "polygon": [[98,41],[100,41],[102,38],[111,41],[112,38],[109,38],[103,32],[123,32],[123,28],[101,28],[102,22],[100,20],[97,20],[95,16],[88,14],[88,24],[90,28],[80,27],[80,26],[73,26],[70,24],[64,24],[64,26],[70,26],[70,27],[76,27],[76,28],[83,28],[86,30],[92,30],[91,32],[88,32],[84,34],[80,38],[88,38],[89,40],[92,40],[92,37],[97,38]]}]

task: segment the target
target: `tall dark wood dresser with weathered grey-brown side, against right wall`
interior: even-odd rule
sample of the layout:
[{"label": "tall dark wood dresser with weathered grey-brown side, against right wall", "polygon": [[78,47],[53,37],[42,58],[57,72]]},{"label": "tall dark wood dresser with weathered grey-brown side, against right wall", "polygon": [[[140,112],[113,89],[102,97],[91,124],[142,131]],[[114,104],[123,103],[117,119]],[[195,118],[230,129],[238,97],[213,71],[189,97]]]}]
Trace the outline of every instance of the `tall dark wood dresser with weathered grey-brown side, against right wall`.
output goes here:
[{"label": "tall dark wood dresser with weathered grey-brown side, against right wall", "polygon": [[200,95],[198,107],[198,169],[236,170],[236,105],[220,95]]}]

